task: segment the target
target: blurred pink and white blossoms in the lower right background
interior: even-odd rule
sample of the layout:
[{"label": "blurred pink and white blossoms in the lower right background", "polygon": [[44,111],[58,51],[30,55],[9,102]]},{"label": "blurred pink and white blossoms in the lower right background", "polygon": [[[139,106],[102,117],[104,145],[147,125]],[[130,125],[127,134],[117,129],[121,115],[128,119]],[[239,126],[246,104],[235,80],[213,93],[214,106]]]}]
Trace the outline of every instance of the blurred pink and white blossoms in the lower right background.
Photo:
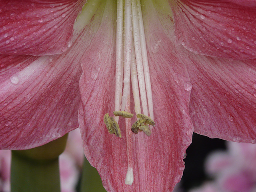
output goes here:
[{"label": "blurred pink and white blossoms in the lower right background", "polygon": [[227,152],[214,152],[206,160],[206,171],[224,192],[256,190],[256,144],[227,142]]}]

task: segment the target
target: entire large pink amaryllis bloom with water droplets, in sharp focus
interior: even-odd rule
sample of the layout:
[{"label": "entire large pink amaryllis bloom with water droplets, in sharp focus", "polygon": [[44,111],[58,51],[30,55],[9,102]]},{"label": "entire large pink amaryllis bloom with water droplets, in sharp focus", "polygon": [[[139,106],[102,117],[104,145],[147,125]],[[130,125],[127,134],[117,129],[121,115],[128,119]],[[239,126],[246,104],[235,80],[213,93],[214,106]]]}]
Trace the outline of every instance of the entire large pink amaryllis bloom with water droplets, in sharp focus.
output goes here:
[{"label": "entire large pink amaryllis bloom with water droplets, in sharp focus", "polygon": [[[0,147],[79,126],[106,190],[171,191],[193,131],[256,142],[256,1],[123,4],[0,2]],[[134,126],[150,136],[136,116],[115,117],[120,132],[110,118],[110,135],[116,109],[154,119]]]}]

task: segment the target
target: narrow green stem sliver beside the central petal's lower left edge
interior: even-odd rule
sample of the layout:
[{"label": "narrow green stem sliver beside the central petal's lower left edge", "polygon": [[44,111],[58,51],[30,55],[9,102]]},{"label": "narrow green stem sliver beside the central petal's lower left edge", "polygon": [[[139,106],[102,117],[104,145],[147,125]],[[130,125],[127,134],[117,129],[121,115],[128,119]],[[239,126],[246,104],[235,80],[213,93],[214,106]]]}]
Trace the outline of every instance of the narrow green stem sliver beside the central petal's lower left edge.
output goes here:
[{"label": "narrow green stem sliver beside the central petal's lower left edge", "polygon": [[81,192],[106,192],[100,175],[96,168],[92,167],[88,160],[84,158],[83,173],[81,180]]}]

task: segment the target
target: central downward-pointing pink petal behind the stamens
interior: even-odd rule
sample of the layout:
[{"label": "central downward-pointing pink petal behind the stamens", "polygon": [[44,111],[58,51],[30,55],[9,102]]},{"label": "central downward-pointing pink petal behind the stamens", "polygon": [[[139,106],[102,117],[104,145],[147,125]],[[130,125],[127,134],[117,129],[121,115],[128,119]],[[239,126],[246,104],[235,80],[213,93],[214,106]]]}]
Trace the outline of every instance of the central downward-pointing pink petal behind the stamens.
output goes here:
[{"label": "central downward-pointing pink petal behind the stamens", "polygon": [[150,137],[143,133],[133,135],[131,186],[124,183],[128,164],[124,121],[120,120],[122,138],[110,135],[103,122],[104,114],[114,111],[114,4],[101,5],[92,18],[95,25],[101,25],[81,61],[79,126],[84,152],[108,191],[172,191],[182,176],[184,152],[192,138],[188,115],[190,91],[184,88],[189,82],[186,68],[172,53],[174,44],[160,26],[152,4],[147,2],[142,7],[144,26],[148,27],[145,30],[156,127]]}]

